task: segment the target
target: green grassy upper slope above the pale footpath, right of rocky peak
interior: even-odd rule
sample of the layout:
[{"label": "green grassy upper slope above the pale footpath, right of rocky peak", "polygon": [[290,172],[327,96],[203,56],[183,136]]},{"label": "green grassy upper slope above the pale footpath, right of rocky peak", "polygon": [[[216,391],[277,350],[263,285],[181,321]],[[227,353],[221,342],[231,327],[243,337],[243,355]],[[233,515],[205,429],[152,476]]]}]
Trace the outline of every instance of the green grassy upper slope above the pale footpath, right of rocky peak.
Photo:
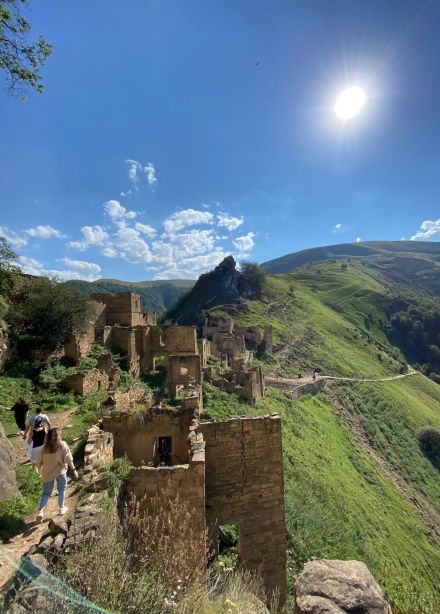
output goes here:
[{"label": "green grassy upper slope above the pale footpath, right of rocky peak", "polygon": [[269,277],[264,300],[247,301],[234,321],[272,325],[275,349],[283,351],[262,358],[268,371],[382,377],[399,373],[404,362],[382,330],[385,296],[362,265],[323,263]]}]

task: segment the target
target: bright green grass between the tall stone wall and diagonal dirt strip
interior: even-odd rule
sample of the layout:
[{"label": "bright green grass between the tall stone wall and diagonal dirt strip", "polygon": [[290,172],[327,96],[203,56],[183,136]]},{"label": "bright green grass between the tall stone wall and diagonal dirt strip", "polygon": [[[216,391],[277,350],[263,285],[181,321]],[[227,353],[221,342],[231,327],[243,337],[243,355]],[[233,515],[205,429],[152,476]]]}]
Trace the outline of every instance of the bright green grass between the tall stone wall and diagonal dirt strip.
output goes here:
[{"label": "bright green grass between the tall stone wall and diagonal dirt strip", "polygon": [[[440,549],[428,528],[356,442],[324,396],[293,402],[269,390],[256,408],[217,391],[206,396],[214,419],[282,419],[289,576],[312,556],[362,560],[396,612],[432,613],[440,586]],[[423,600],[430,604],[423,609]],[[414,605],[416,604],[416,605]],[[429,609],[434,608],[434,609]]]}]

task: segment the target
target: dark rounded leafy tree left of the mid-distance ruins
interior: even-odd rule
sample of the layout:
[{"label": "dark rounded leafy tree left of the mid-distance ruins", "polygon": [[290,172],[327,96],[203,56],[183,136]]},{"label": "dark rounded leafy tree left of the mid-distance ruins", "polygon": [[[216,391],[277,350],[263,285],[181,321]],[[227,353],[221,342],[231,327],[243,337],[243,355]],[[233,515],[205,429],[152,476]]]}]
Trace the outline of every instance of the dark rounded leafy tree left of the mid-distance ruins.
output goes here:
[{"label": "dark rounded leafy tree left of the mid-distance ruins", "polygon": [[44,277],[26,280],[13,297],[10,321],[46,350],[60,347],[71,332],[85,329],[91,314],[86,294]]}]

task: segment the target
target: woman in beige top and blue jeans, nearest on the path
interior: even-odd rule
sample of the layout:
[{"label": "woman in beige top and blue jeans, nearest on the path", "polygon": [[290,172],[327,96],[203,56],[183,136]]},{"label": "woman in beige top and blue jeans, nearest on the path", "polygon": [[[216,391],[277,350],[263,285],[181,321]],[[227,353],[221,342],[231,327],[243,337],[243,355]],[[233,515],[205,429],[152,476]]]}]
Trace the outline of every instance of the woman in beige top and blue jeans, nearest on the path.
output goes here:
[{"label": "woman in beige top and blue jeans, nearest on the path", "polygon": [[67,512],[67,507],[64,505],[64,497],[67,487],[67,465],[73,472],[73,479],[78,479],[75,465],[73,464],[72,453],[69,446],[61,439],[60,429],[49,429],[46,435],[44,446],[38,453],[37,468],[41,472],[43,479],[43,493],[40,499],[40,505],[37,514],[37,523],[43,520],[44,508],[52,494],[55,480],[58,489],[58,505],[60,507],[60,516]]}]

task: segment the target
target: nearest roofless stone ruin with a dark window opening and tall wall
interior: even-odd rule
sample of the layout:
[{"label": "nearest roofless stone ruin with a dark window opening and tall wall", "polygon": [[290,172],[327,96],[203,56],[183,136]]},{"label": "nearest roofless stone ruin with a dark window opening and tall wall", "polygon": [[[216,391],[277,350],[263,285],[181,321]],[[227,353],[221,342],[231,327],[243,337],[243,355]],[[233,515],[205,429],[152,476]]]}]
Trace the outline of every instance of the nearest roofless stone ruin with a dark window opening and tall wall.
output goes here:
[{"label": "nearest roofless stone ruin with a dark window opening and tall wall", "polygon": [[[191,510],[192,529],[218,548],[219,527],[239,529],[238,566],[261,575],[268,598],[286,595],[281,423],[277,414],[204,421],[197,396],[180,407],[112,412],[102,428],[113,435],[115,457],[133,469],[127,496],[141,513],[157,513],[157,497]],[[153,508],[155,512],[153,512]]]}]

